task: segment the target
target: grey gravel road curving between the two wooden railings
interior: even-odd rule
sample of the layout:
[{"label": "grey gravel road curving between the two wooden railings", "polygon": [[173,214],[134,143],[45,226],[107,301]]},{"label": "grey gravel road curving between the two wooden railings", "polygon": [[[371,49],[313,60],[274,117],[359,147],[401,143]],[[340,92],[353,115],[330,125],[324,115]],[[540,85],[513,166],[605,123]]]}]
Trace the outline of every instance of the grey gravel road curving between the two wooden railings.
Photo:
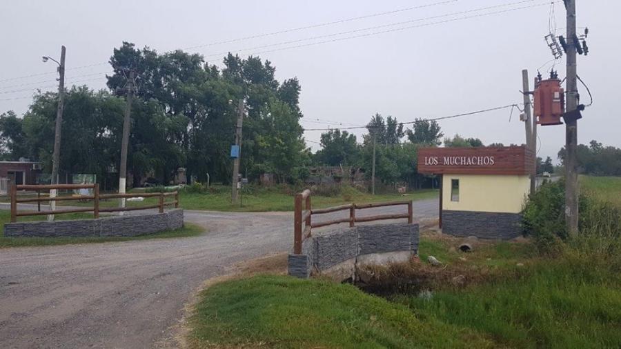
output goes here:
[{"label": "grey gravel road curving between the two wooden railings", "polygon": [[[436,217],[437,199],[415,201],[414,212]],[[186,211],[185,218],[208,232],[0,249],[0,348],[152,348],[202,281],[293,244],[287,212]]]}]

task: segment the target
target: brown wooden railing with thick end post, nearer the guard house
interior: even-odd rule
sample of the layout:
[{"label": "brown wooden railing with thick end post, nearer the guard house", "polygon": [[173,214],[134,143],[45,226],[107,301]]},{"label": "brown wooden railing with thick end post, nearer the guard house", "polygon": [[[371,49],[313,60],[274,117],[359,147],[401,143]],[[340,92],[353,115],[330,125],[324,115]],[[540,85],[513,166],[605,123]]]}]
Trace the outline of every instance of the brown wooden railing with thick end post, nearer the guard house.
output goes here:
[{"label": "brown wooden railing with thick end post, nearer the guard house", "polygon": [[[304,210],[302,210],[302,204],[304,203]],[[356,217],[356,210],[362,210],[365,208],[377,208],[386,206],[408,206],[407,213],[399,213],[393,215],[376,215]],[[325,213],[349,211],[349,217],[333,219],[331,221],[322,221],[319,223],[313,222],[313,216],[322,215]],[[414,221],[412,201],[391,201],[391,202],[378,202],[378,203],[350,203],[348,205],[334,206],[331,208],[319,208],[313,210],[311,208],[311,190],[304,190],[303,192],[295,195],[295,206],[293,212],[293,253],[296,255],[302,254],[302,242],[311,236],[311,230],[313,228],[319,228],[324,226],[331,226],[339,223],[349,223],[350,227],[354,227],[356,222],[368,222],[368,221],[380,221],[382,219],[408,219],[408,223],[412,224]],[[304,222],[304,228],[302,228],[302,222]]]}]

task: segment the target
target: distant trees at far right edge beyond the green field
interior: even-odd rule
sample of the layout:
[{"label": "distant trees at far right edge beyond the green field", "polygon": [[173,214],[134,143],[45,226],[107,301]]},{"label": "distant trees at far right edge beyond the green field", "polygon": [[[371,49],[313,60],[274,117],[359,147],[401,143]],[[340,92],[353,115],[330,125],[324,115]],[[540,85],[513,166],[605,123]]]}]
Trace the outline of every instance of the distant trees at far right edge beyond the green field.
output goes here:
[{"label": "distant trees at far right edge beyond the green field", "polygon": [[[566,150],[563,147],[558,152],[558,159],[564,165]],[[591,141],[589,145],[579,144],[576,148],[578,171],[586,175],[621,176],[621,149],[613,146],[603,146],[598,141]]]}]

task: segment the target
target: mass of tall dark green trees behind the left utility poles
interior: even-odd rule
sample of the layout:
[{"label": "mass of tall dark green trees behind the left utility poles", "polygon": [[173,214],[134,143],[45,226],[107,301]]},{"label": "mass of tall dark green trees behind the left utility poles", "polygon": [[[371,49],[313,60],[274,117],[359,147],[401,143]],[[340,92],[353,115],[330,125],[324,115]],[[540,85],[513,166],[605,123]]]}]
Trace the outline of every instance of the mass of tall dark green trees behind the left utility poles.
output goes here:
[{"label": "mass of tall dark green trees behind the left utility poles", "polygon": [[[199,54],[180,50],[159,54],[123,43],[110,58],[114,73],[109,90],[73,86],[64,103],[61,172],[105,176],[119,167],[126,84],[136,72],[136,97],[128,151],[128,171],[135,183],[152,174],[168,183],[177,168],[200,181],[207,173],[230,181],[230,144],[237,121],[237,101],[244,99],[242,172],[271,172],[285,177],[308,163],[299,119],[299,81],[275,79],[275,67],[257,57],[228,54],[224,68],[205,63]],[[41,161],[50,172],[57,93],[34,96],[23,117],[0,117],[0,156]]]}]

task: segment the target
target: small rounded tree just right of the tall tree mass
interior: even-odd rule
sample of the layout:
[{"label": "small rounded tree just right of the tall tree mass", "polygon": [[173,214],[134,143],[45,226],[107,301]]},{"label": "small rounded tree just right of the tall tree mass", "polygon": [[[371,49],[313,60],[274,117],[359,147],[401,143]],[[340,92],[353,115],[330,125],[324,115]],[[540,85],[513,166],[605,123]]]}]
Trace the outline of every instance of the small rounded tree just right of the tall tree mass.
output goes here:
[{"label": "small rounded tree just right of the tall tree mass", "polygon": [[356,136],[347,131],[336,129],[324,132],[320,143],[322,149],[317,151],[315,157],[328,166],[351,166],[359,157]]}]

